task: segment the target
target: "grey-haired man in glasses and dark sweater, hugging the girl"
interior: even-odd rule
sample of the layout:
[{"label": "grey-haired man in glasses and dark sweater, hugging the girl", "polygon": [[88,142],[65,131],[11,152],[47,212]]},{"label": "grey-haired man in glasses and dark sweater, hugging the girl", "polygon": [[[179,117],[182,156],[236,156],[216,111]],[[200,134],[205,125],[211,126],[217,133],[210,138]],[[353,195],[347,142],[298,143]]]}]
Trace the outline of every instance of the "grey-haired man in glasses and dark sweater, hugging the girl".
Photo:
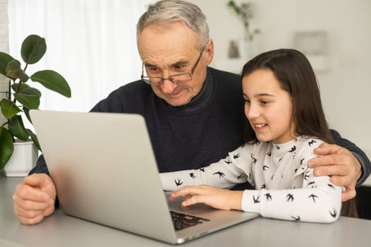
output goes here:
[{"label": "grey-haired man in glasses and dark sweater, hugging the girl", "polygon": [[[93,112],[143,115],[160,172],[198,169],[243,143],[240,76],[208,67],[213,41],[197,6],[168,0],[149,6],[137,24],[137,44],[141,80],[114,90]],[[356,183],[370,174],[371,164],[362,150],[333,133],[340,146],[319,147],[317,154],[325,156],[312,159],[311,166],[317,176],[330,175],[345,186],[343,200],[348,200],[355,196]],[[51,215],[57,198],[43,157],[30,174],[13,195],[14,212],[23,224]]]}]

